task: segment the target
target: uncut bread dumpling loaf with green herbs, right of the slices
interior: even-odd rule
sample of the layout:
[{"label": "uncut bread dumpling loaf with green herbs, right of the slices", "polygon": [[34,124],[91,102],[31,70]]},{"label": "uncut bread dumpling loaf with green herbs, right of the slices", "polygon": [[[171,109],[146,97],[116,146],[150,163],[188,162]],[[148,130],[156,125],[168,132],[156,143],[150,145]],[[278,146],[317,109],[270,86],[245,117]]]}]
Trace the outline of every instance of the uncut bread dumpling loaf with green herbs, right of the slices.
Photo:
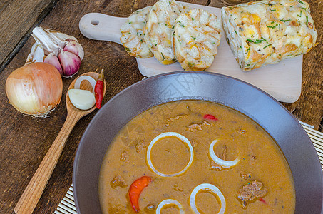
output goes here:
[{"label": "uncut bread dumpling loaf with green herbs, right of the slices", "polygon": [[306,54],[317,41],[309,4],[303,0],[223,7],[222,26],[242,71]]}]

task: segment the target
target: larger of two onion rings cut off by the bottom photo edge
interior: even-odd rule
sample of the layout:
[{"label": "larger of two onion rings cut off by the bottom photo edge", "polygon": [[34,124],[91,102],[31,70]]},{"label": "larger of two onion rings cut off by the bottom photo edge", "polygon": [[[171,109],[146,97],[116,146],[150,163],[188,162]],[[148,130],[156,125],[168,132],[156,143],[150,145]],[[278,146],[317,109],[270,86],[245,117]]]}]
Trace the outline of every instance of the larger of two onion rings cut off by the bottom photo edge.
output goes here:
[{"label": "larger of two onion rings cut off by the bottom photo edge", "polygon": [[200,212],[198,212],[198,208],[196,208],[195,205],[195,197],[200,190],[209,190],[212,193],[215,193],[215,195],[217,195],[220,198],[221,203],[221,209],[218,214],[225,213],[225,196],[223,196],[221,191],[215,185],[212,185],[210,183],[202,183],[195,187],[192,193],[190,193],[190,208],[192,208],[194,213],[200,214]]}]

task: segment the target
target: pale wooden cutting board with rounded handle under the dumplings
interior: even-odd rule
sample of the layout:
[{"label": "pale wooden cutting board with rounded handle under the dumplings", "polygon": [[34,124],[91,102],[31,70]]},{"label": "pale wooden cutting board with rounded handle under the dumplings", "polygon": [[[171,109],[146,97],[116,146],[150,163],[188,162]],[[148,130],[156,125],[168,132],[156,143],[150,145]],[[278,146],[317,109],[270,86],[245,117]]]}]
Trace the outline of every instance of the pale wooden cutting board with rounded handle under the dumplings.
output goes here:
[{"label": "pale wooden cutting board with rounded handle under the dumplings", "polygon": [[[219,8],[189,4],[190,9],[204,9],[217,17],[221,16]],[[108,16],[105,14],[90,13],[84,15],[79,23],[81,33],[89,39],[113,41],[121,44],[121,25],[127,18]],[[153,58],[136,58],[138,68],[143,76],[155,76],[160,73],[171,71],[183,71],[180,63],[163,65]],[[302,56],[289,58],[274,65],[264,66],[252,71],[241,71],[232,51],[225,40],[224,34],[217,47],[217,55],[212,66],[206,71],[221,73],[227,76],[246,81],[263,91],[269,93],[278,101],[293,103],[297,101],[302,90]]]}]

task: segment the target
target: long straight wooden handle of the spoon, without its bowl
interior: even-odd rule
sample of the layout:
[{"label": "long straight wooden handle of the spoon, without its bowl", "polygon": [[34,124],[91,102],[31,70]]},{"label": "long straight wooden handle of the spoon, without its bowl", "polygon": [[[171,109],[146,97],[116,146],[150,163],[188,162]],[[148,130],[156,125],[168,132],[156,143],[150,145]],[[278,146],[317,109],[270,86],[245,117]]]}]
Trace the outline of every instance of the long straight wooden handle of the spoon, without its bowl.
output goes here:
[{"label": "long straight wooden handle of the spoon, without its bowl", "polygon": [[53,173],[53,169],[58,162],[58,158],[61,156],[66,140],[78,119],[79,117],[70,116],[70,114],[68,114],[61,131],[58,133],[55,141],[53,141],[53,144],[46,153],[46,156],[43,158],[43,161],[41,161],[39,168],[36,170],[33,178],[31,178],[29,184],[24,190],[24,193],[19,198],[19,201],[14,208],[15,213],[33,213],[49,178],[51,178],[51,173]]}]

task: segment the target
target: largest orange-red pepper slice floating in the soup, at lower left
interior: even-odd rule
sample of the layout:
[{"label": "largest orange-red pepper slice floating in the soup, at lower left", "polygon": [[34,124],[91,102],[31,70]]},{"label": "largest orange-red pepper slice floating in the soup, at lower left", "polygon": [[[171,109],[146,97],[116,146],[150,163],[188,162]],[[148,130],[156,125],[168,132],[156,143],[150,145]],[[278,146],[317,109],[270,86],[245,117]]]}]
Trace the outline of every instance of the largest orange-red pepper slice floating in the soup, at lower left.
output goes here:
[{"label": "largest orange-red pepper slice floating in the soup, at lower left", "polygon": [[130,185],[130,188],[129,188],[130,203],[131,203],[131,206],[133,207],[133,210],[135,210],[136,213],[139,212],[140,193],[143,191],[145,187],[148,186],[150,181],[151,181],[150,177],[143,176],[135,180],[133,184]]}]

